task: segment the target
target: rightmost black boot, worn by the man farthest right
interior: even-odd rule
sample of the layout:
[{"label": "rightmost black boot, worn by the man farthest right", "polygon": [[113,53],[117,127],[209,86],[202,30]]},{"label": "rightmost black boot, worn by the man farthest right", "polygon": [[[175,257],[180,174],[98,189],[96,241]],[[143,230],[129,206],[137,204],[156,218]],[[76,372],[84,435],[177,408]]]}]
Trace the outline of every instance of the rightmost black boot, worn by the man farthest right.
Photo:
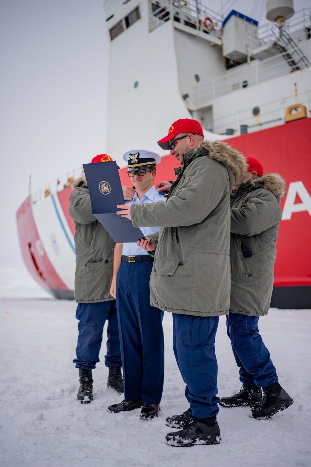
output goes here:
[{"label": "rightmost black boot, worn by the man farthest right", "polygon": [[252,409],[250,416],[259,420],[266,420],[277,412],[287,409],[293,402],[293,399],[280,384],[275,382],[263,388],[263,404]]}]

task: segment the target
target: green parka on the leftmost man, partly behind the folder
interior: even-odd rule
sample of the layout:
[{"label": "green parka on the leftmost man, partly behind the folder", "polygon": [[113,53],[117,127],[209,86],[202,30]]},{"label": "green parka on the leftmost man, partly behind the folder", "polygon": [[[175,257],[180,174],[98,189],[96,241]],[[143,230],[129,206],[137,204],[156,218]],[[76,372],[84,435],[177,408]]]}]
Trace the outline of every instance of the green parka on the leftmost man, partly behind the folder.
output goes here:
[{"label": "green parka on the leftmost man, partly behind the folder", "polygon": [[77,303],[114,300],[110,295],[115,242],[92,214],[85,177],[73,184],[69,197],[69,214],[75,222]]}]

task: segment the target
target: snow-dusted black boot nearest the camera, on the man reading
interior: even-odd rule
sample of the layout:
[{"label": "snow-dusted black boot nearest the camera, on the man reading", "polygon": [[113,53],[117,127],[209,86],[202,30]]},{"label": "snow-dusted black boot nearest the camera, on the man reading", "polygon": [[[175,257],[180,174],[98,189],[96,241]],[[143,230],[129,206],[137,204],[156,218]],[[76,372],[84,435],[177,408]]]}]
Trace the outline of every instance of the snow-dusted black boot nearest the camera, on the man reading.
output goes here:
[{"label": "snow-dusted black boot nearest the camera, on the man reading", "polygon": [[201,418],[194,417],[193,423],[179,432],[168,433],[166,443],[171,446],[188,447],[201,444],[219,444],[221,441],[218,423],[209,426]]}]

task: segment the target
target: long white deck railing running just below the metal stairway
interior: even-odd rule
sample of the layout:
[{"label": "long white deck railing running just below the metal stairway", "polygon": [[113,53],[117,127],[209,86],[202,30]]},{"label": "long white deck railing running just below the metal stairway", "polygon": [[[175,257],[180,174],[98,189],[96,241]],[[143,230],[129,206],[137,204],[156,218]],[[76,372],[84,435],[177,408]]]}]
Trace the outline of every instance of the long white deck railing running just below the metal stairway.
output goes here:
[{"label": "long white deck railing running just below the metal stairway", "polygon": [[[311,40],[300,45],[299,50],[303,51],[311,62]],[[265,60],[241,64],[218,78],[206,81],[201,79],[194,90],[192,99],[194,110],[210,105],[211,100],[225,94],[290,73],[290,59],[286,58],[287,54],[288,52],[283,52]]]}]

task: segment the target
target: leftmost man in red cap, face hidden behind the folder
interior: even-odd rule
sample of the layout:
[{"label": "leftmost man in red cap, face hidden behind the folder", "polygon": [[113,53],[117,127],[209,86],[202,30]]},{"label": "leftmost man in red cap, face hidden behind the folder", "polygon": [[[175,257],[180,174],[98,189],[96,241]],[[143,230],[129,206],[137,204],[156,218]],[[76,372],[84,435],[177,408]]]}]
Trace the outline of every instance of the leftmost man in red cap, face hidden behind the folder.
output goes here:
[{"label": "leftmost man in red cap, face hidden behind the folder", "polygon": [[[112,161],[107,154],[99,154],[92,159],[92,163],[107,161]],[[109,368],[108,386],[123,393],[116,300],[110,294],[115,242],[92,214],[85,176],[78,178],[72,188],[69,214],[75,222],[75,298],[78,303],[76,318],[79,320],[74,360],[80,376],[77,399],[81,403],[90,403],[93,400],[92,369],[99,361],[106,319],[108,340],[105,365]]]}]

